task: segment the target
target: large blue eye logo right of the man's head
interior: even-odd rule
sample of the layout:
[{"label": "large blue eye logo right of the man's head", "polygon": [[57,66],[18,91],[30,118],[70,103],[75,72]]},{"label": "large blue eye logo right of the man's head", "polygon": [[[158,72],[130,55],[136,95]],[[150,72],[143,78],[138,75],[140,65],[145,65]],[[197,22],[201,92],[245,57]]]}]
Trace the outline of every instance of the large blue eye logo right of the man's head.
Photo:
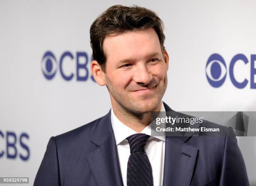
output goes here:
[{"label": "large blue eye logo right of the man's head", "polygon": [[206,77],[210,85],[220,87],[227,75],[227,67],[224,59],[219,54],[212,54],[206,63]]}]

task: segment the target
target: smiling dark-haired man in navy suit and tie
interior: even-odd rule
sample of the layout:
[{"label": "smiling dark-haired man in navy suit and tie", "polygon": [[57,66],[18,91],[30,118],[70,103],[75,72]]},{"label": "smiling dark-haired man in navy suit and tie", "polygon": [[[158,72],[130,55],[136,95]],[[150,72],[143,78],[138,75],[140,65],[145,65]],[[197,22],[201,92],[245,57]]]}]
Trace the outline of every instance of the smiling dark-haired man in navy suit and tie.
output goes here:
[{"label": "smiling dark-haired man in navy suit and tie", "polygon": [[232,129],[218,138],[151,136],[151,112],[172,111],[161,101],[169,55],[153,11],[112,6],[92,23],[90,38],[91,71],[112,109],[51,137],[34,185],[249,185]]}]

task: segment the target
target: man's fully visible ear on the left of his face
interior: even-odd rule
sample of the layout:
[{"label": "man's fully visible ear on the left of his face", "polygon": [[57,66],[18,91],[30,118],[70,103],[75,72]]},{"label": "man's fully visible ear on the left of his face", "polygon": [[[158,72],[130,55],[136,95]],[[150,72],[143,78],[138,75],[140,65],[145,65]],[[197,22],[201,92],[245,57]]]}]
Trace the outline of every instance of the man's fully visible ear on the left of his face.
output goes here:
[{"label": "man's fully visible ear on the left of his face", "polygon": [[93,78],[100,86],[104,86],[106,84],[105,73],[102,71],[100,64],[96,60],[93,60],[91,63],[91,72]]}]

